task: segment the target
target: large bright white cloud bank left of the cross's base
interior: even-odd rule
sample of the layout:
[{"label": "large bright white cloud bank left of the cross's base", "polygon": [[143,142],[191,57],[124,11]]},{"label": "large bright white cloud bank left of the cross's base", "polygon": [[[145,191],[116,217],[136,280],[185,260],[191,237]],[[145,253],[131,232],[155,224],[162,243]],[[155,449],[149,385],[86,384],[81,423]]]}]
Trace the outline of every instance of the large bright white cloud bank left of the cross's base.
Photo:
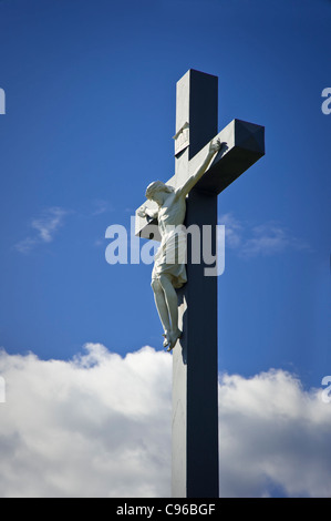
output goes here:
[{"label": "large bright white cloud bank left of the cross's base", "polygon": [[168,490],[170,357],[89,344],[73,360],[0,357],[3,497],[159,496]]}]

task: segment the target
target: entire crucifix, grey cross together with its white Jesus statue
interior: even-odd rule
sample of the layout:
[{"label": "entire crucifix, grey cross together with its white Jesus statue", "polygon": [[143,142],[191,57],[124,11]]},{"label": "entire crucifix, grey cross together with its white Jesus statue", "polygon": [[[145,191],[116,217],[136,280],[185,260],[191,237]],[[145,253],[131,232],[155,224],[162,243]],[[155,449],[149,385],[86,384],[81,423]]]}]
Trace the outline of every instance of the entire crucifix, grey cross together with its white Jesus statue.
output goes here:
[{"label": "entire crucifix, grey cross together with its white Jesus statue", "polygon": [[[234,120],[218,133],[218,79],[193,69],[177,82],[176,102],[175,175],[148,185],[135,232],[161,241],[152,287],[173,353],[172,494],[217,498],[217,277],[206,276],[204,259],[192,262],[189,247],[185,265],[163,252],[178,245],[167,224],[216,231],[217,195],[265,154],[265,129]],[[216,249],[216,233],[213,241]]]}]

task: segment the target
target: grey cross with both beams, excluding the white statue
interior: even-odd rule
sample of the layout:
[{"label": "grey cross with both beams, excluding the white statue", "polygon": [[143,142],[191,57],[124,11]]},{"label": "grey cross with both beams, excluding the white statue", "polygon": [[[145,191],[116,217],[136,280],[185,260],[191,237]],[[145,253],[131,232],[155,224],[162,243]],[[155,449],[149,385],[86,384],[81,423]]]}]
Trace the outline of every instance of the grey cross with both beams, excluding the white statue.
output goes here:
[{"label": "grey cross with both beams, excluding the white statue", "polygon": [[[265,127],[234,120],[218,133],[218,78],[193,69],[177,82],[176,101],[175,175],[166,184],[183,185],[211,139],[227,143],[187,197],[186,227],[216,229],[217,195],[265,155]],[[159,239],[153,224],[136,215],[136,235]],[[205,267],[190,262],[188,247],[187,283],[177,290],[183,335],[173,350],[175,498],[218,497],[217,277],[205,276]]]}]

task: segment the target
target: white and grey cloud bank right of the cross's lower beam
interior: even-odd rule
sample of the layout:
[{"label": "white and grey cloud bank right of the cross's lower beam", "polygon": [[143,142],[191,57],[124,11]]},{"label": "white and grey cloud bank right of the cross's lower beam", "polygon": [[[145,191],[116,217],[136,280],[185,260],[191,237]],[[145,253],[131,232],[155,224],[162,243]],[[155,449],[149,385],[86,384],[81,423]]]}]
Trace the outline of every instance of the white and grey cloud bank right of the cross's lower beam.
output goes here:
[{"label": "white and grey cloud bank right of the cross's lower beam", "polygon": [[331,403],[293,375],[225,376],[219,389],[221,493],[331,496]]}]

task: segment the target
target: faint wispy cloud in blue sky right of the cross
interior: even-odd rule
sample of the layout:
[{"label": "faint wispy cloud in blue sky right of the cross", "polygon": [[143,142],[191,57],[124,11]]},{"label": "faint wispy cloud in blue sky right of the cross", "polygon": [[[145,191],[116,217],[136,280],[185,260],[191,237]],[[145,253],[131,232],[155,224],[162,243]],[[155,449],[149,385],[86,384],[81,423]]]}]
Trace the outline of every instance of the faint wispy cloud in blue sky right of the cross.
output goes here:
[{"label": "faint wispy cloud in blue sky right of the cross", "polygon": [[220,216],[219,224],[225,225],[226,247],[236,249],[241,257],[275,255],[285,249],[309,249],[304,241],[291,235],[279,223],[254,226],[227,213]]}]

